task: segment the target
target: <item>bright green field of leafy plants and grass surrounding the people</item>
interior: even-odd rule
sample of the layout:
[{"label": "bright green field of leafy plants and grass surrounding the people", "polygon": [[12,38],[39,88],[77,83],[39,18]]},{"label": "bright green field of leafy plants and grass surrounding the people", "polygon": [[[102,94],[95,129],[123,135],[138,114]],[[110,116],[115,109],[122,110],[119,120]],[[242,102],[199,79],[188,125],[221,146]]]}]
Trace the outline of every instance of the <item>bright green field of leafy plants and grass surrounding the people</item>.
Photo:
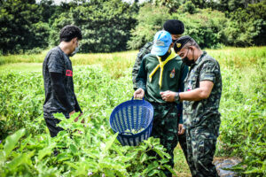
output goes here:
[{"label": "bright green field of leafy plants and grass surrounding the people", "polygon": [[[216,156],[239,157],[242,164],[235,167],[236,171],[246,176],[263,176],[266,174],[266,47],[207,52],[219,61],[223,77],[222,125]],[[32,60],[27,60],[27,56],[13,56],[22,58],[20,61],[13,60],[12,56],[0,57],[1,64],[5,64],[0,65],[1,175],[82,176],[92,173],[92,176],[100,176],[105,173],[106,176],[139,176],[156,173],[154,175],[159,176],[168,155],[158,141],[149,139],[137,147],[122,147],[108,125],[113,108],[133,94],[131,68],[137,51],[74,56],[74,87],[86,127],[72,119],[64,119],[61,127],[67,131],[53,139],[42,115],[41,62],[44,55],[28,56]],[[17,130],[20,131],[12,135]],[[7,135],[12,136],[5,138]],[[52,152],[56,149],[60,153],[54,157]],[[156,151],[161,159],[153,163],[146,155],[147,150]],[[177,176],[190,176],[182,150],[176,148],[175,154]]]}]

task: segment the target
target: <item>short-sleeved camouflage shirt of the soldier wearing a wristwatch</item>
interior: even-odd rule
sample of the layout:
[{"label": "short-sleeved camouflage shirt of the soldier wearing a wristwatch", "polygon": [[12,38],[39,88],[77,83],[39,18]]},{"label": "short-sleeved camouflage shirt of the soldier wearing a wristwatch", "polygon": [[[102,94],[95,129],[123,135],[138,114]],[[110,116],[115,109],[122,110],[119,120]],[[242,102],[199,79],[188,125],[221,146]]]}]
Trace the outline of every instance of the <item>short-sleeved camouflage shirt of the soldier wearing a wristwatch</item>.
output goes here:
[{"label": "short-sleeved camouflage shirt of the soldier wearing a wristwatch", "polygon": [[208,127],[210,121],[221,123],[218,112],[222,95],[222,76],[219,63],[203,52],[184,80],[184,91],[200,87],[200,81],[212,81],[214,87],[207,99],[200,101],[184,101],[183,119],[185,127]]}]

